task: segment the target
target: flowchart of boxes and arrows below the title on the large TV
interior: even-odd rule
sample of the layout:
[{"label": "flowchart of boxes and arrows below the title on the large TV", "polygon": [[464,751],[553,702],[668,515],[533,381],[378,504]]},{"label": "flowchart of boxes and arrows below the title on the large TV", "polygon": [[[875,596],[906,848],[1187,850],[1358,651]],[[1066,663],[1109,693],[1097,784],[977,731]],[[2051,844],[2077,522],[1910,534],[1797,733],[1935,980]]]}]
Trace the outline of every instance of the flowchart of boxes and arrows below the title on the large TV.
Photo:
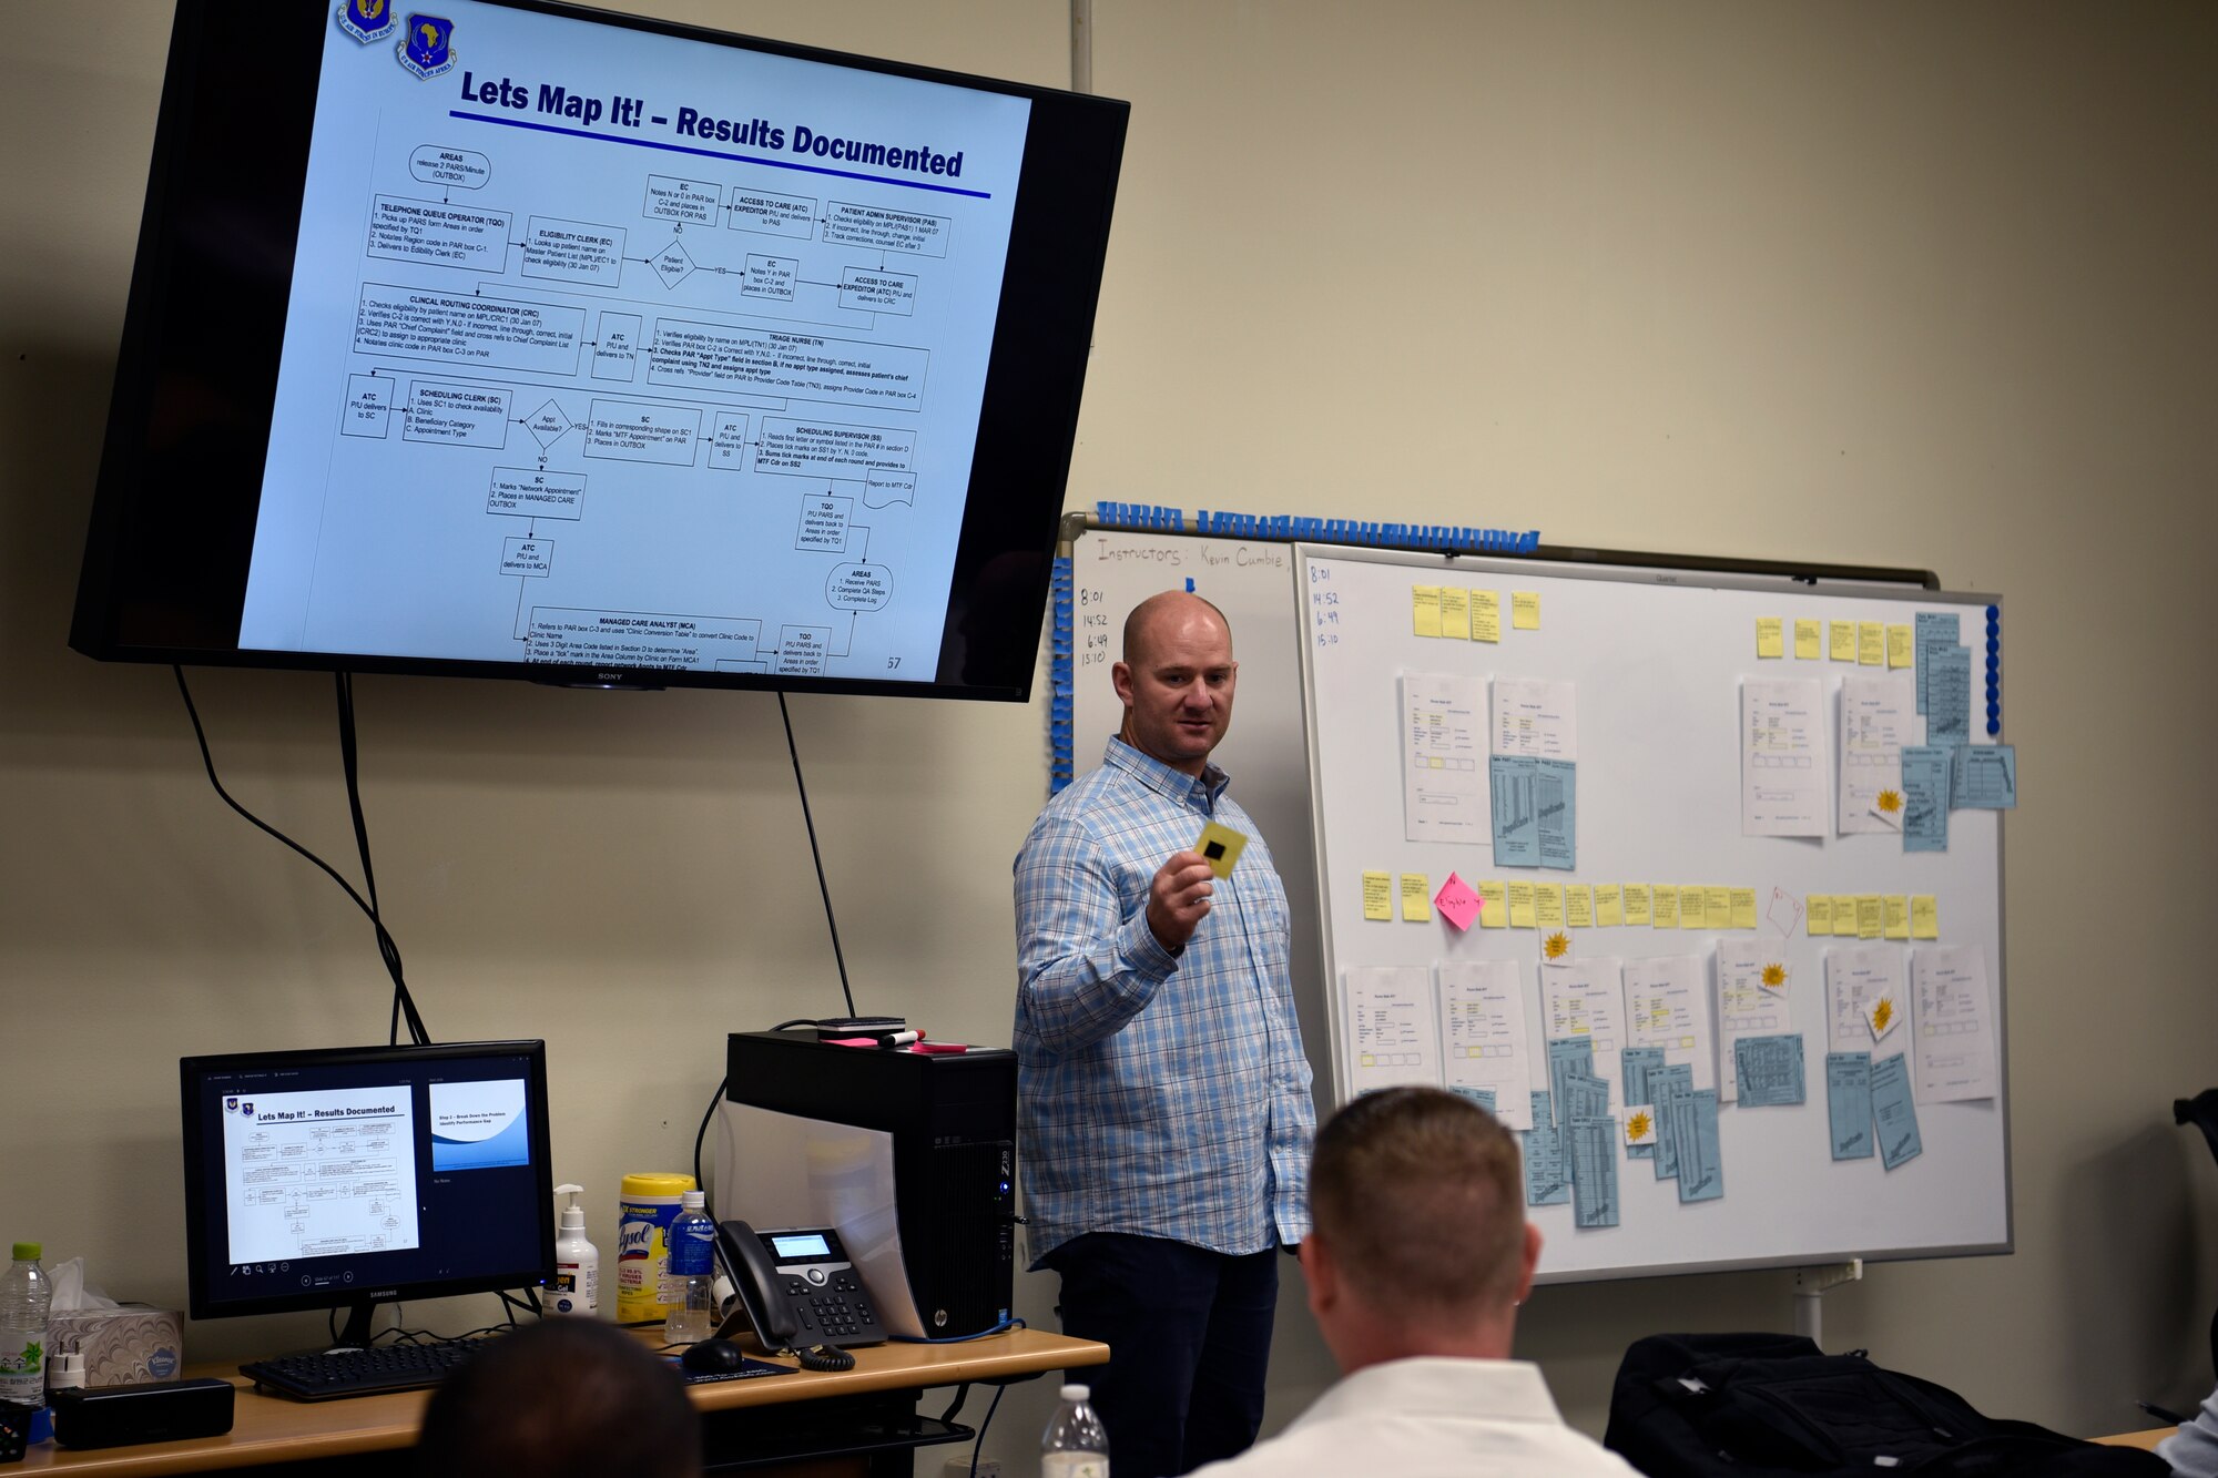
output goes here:
[{"label": "flowchart of boxes and arrows below the title on the large TV", "polygon": [[[927,413],[916,331],[956,217],[643,164],[621,211],[583,217],[510,198],[492,153],[410,146],[408,189],[364,202],[333,462],[481,510],[475,568],[515,584],[526,661],[909,677],[841,664],[898,619],[872,535],[952,548],[960,519],[967,488],[927,486],[920,444],[976,411]],[[721,559],[734,595],[670,608],[672,557]]]}]

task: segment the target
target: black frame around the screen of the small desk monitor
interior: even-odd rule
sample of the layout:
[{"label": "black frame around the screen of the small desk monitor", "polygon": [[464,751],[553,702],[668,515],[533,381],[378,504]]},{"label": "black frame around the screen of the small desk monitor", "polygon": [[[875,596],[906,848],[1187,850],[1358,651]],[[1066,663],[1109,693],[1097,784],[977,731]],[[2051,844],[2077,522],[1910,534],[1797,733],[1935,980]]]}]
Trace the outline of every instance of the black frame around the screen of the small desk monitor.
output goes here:
[{"label": "black frame around the screen of the small desk monitor", "polygon": [[[459,1278],[433,1278],[415,1283],[379,1283],[344,1296],[330,1292],[268,1294],[257,1298],[215,1298],[211,1272],[215,1263],[211,1247],[215,1207],[208,1205],[208,1156],[222,1156],[222,1145],[208,1145],[202,1085],[211,1072],[242,1070],[286,1070],[286,1067],[377,1067],[384,1063],[437,1063],[470,1059],[526,1059],[526,1112],[530,1114],[532,1176],[539,1183],[535,1243],[541,1261],[532,1267],[501,1267],[486,1274]],[[543,1287],[554,1278],[554,1147],[548,1099],[548,1052],[546,1041],[470,1041],[437,1045],[397,1047],[288,1047],[277,1052],[224,1052],[211,1056],[177,1059],[177,1101],[184,1127],[184,1289],[186,1314],[191,1318],[244,1318],[253,1314],[299,1314],[313,1309],[348,1309],[366,1323],[368,1309],[381,1303],[406,1303],[410,1298],[459,1298],[468,1294],[497,1294],[503,1289]],[[468,1236],[468,1227],[455,1232]]]}]

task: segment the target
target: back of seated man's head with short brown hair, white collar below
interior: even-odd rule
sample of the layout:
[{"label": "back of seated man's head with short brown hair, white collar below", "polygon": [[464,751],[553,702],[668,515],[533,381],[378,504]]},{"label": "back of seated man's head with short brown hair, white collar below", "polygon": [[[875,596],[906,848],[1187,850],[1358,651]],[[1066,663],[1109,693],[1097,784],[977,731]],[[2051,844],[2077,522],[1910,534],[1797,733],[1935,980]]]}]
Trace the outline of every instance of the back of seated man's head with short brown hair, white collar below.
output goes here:
[{"label": "back of seated man's head with short brown hair, white collar below", "polygon": [[1342,1369],[1413,1354],[1506,1358],[1539,1263],[1517,1141],[1437,1087],[1355,1099],[1320,1132],[1302,1243]]}]

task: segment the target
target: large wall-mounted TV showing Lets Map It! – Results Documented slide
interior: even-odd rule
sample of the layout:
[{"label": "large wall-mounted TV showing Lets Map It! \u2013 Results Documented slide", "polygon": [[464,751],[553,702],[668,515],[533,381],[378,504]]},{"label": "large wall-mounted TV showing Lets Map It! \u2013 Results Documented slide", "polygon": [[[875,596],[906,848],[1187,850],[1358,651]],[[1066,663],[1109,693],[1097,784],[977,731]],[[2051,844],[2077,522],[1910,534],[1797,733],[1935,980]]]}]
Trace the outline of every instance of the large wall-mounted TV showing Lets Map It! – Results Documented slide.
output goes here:
[{"label": "large wall-mounted TV showing Lets Map It! \u2013 Results Documented slide", "polygon": [[182,0],[71,644],[1022,699],[1127,107]]}]

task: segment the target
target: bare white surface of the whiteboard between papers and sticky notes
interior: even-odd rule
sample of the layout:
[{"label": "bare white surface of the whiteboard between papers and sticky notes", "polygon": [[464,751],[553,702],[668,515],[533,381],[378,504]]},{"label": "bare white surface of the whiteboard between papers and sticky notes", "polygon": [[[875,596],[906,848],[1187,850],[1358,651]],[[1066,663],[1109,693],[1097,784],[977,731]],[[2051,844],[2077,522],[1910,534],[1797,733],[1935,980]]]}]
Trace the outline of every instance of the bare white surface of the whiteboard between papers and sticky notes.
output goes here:
[{"label": "bare white surface of the whiteboard between papers and sticky notes", "polygon": [[[1941,595],[1903,584],[1788,575],[1715,575],[1555,561],[1444,559],[1295,546],[1295,599],[1304,732],[1313,788],[1313,843],[1326,994],[1322,1052],[1331,1099],[1355,1081],[1346,972],[1517,961],[1526,999],[1528,1061],[1546,1087],[1539,1010],[1542,930],[1457,932],[1364,917],[1362,874],[1424,874],[1437,890],[1451,870],[1471,883],[1664,883],[1754,888],[1754,930],[1568,930],[1577,959],[1701,954],[1715,1041],[1715,950],[1761,939],[1790,970],[1783,992],[1803,1036],[1805,1099],[1799,1107],[1721,1107],[1723,1196],[1681,1205],[1672,1181],[1615,1147],[1619,1225],[1575,1227],[1570,1205],[1530,1207],[1548,1238],[1546,1278],[1604,1278],[1726,1267],[1812,1265],[2007,1252],[2010,1127],[2003,1021],[2001,812],[1954,810],[1945,852],[1903,852],[1899,834],[1821,839],[1748,837],[1741,823],[1741,684],[1817,679],[1825,712],[1825,763],[1839,743],[1843,675],[1874,668],[1797,659],[1794,619],[1910,624],[1912,613],[1954,613],[1963,644],[1983,655],[1985,595]],[[1499,644],[1417,637],[1413,590],[1448,586],[1499,597]],[[1513,593],[1539,604],[1537,630],[1513,630]],[[1785,624],[1785,655],[1757,657],[1759,617]],[[1983,664],[1974,657],[1974,670]],[[1408,675],[1575,684],[1577,859],[1573,870],[1504,868],[1490,834],[1411,841],[1404,823],[1404,712]],[[1249,679],[1242,666],[1242,701]],[[1983,703],[1974,688],[1974,735]],[[1235,715],[1240,719],[1251,715]],[[1839,783],[1828,779],[1828,799]],[[1273,843],[1275,846],[1275,843]],[[1939,943],[1978,945],[1994,1021],[1996,1096],[1919,1103],[1923,1154],[1888,1172],[1879,1156],[1832,1161],[1825,1107],[1825,952],[1854,939],[1812,939],[1801,923],[1810,894],[1932,894]],[[1400,903],[1400,899],[1397,899]],[[1907,943],[1903,950],[1907,979]],[[1919,1023],[1874,1047],[1910,1047]],[[1366,1039],[1375,1041],[1375,1039]],[[1317,1045],[1311,1043],[1313,1054]],[[1914,1061],[1914,1059],[1912,1059]],[[1375,1059],[1364,1070],[1377,1076]],[[1435,1063],[1437,1076],[1437,1063]],[[1612,1083],[1610,1112],[1621,1112]]]}]

